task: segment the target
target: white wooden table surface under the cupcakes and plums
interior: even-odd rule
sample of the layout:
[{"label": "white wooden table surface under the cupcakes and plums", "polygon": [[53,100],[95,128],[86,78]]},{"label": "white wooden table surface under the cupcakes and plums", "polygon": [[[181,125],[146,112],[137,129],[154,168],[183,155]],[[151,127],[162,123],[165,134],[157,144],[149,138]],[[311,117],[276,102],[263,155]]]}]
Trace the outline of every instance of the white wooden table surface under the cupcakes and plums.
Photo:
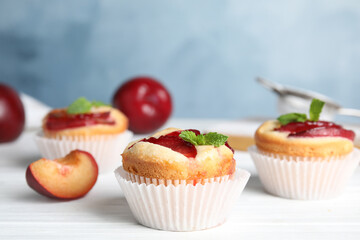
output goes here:
[{"label": "white wooden table surface under the cupcakes and plums", "polygon": [[[167,126],[209,129],[221,120],[173,119]],[[197,232],[166,232],[136,223],[113,173],[74,201],[40,196],[25,180],[27,166],[40,158],[25,132],[0,145],[0,239],[360,239],[360,169],[339,198],[296,201],[265,193],[247,153],[237,165],[252,173],[225,224]]]}]

